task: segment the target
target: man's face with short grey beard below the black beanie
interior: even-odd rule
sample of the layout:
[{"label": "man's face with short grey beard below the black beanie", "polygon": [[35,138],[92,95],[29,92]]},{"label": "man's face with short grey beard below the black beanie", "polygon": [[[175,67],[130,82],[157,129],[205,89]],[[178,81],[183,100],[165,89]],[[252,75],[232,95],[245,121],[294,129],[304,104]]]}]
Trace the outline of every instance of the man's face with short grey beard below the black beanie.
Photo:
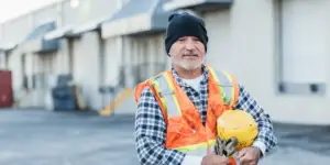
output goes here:
[{"label": "man's face with short grey beard below the black beanie", "polygon": [[178,38],[169,50],[172,62],[185,69],[195,69],[205,61],[205,45],[195,36]]}]

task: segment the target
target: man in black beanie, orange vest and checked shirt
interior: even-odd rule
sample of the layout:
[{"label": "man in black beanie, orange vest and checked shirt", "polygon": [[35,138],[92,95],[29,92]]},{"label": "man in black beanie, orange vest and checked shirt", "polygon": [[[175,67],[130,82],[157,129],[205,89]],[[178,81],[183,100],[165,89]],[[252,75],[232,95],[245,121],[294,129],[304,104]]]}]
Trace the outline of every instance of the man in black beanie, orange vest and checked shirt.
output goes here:
[{"label": "man in black beanie, orange vest and checked shirt", "polygon": [[[172,69],[140,84],[135,99],[135,142],[142,165],[256,165],[277,143],[270,116],[242,85],[205,65],[207,30],[200,18],[172,14],[165,47]],[[245,110],[258,123],[251,147],[235,160],[218,156],[216,119],[230,109]]]}]

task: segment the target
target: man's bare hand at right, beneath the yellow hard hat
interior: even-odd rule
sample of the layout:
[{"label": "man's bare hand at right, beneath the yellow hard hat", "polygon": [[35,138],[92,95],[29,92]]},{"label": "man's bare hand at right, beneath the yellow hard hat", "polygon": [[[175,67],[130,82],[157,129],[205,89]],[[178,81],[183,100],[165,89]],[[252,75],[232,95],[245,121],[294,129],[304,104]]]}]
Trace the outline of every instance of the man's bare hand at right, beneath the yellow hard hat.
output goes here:
[{"label": "man's bare hand at right, beneath the yellow hard hat", "polygon": [[240,165],[257,165],[261,156],[261,151],[256,147],[245,147],[239,151],[238,158]]}]

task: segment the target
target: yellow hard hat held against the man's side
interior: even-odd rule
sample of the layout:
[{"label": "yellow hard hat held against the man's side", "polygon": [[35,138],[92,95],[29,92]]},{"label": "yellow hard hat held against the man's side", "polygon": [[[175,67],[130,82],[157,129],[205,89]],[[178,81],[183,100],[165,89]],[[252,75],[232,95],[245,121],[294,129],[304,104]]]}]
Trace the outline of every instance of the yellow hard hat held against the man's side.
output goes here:
[{"label": "yellow hard hat held against the man's side", "polygon": [[235,151],[252,145],[257,136],[257,123],[244,110],[227,110],[217,119],[218,136],[221,140],[237,138]]}]

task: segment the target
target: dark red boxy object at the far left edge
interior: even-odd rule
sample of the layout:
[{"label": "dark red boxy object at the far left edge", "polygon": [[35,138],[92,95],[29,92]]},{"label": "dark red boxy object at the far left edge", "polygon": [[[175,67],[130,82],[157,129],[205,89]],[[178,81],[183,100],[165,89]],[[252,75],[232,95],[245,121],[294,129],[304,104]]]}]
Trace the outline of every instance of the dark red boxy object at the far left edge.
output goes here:
[{"label": "dark red boxy object at the far left edge", "polygon": [[10,70],[0,70],[0,108],[9,108],[12,103],[12,73]]}]

